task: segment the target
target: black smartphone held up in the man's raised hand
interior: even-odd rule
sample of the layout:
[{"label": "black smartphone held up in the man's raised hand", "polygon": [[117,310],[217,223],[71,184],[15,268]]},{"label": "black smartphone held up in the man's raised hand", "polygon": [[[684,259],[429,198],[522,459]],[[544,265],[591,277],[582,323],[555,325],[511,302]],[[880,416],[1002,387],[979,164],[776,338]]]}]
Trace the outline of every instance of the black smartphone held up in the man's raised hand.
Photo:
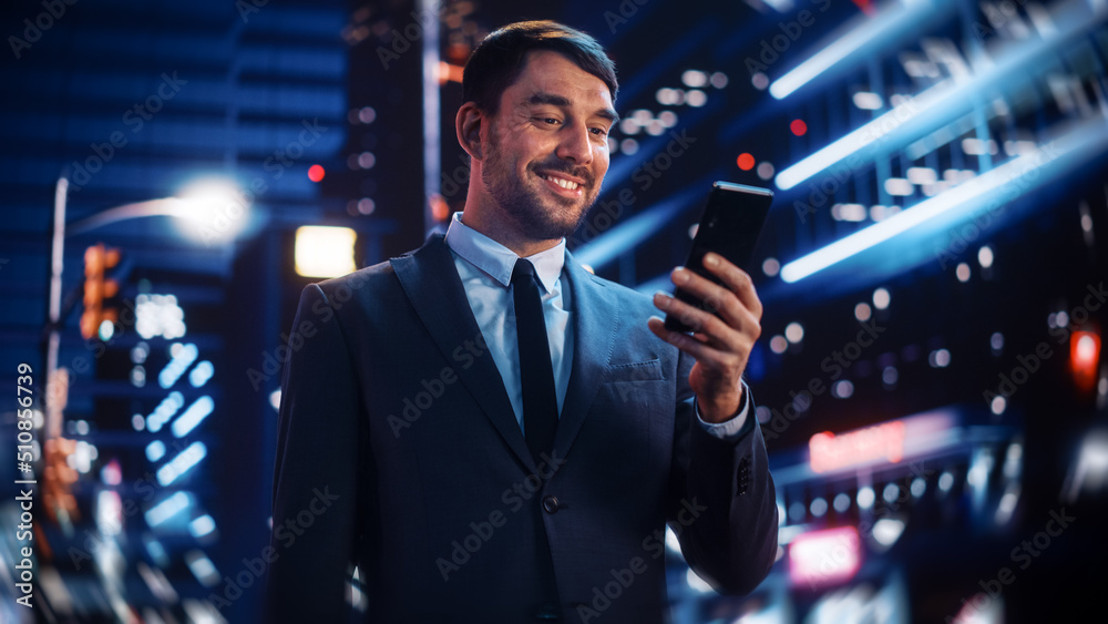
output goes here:
[{"label": "black smartphone held up in the man's raised hand", "polygon": [[[758,245],[758,234],[766,223],[769,206],[773,202],[773,192],[769,188],[715,182],[708,193],[708,204],[700,217],[696,236],[693,238],[693,249],[685,262],[685,268],[721,284],[719,278],[704,268],[701,260],[708,252],[715,252],[743,270],[749,270]],[[674,298],[700,309],[715,311],[711,306],[689,295],[680,288],[674,290]],[[666,329],[671,331],[693,331],[675,315],[666,315]]]}]

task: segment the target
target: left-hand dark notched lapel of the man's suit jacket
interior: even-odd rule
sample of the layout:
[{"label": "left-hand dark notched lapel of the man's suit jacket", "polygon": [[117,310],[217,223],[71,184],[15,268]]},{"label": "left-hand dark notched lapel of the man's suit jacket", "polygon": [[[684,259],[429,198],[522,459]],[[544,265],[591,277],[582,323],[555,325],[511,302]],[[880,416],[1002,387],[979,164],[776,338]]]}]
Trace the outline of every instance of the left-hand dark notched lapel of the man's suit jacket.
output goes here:
[{"label": "left-hand dark notched lapel of the man's suit jacket", "polygon": [[[465,298],[465,289],[458,277],[454,258],[443,242],[443,236],[431,236],[413,254],[393,258],[391,264],[408,299],[442,356],[447,361],[454,361],[452,354],[465,345],[466,340],[473,342],[481,330],[469,299]],[[504,442],[529,470],[534,471],[534,460],[527,450],[520,423],[515,420],[503,378],[492,356],[485,352],[474,359],[473,366],[455,367],[454,370]]]}]

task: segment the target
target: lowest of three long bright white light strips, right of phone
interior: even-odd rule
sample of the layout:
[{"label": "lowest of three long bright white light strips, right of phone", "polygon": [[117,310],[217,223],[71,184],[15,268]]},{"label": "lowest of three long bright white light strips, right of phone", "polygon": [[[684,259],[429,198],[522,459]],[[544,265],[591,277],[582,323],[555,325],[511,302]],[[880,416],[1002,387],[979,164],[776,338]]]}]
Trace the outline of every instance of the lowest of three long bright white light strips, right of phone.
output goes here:
[{"label": "lowest of three long bright white light strips, right of phone", "polygon": [[[1108,139],[1108,131],[1106,131],[1104,121],[1090,120],[1075,127],[1064,137],[1040,146],[1035,152],[1008,161],[931,200],[925,200],[906,211],[901,211],[880,223],[784,265],[781,268],[781,279],[790,284],[803,279],[941,214],[953,209],[965,209],[971,206],[972,201],[991,191],[1026,178],[1028,187],[1007,197],[1008,201],[1013,201],[1029,190],[1030,184],[1043,183],[1038,172],[1045,165],[1055,163],[1059,157],[1073,154],[1078,150],[1105,143],[1106,139]],[[1030,176],[1029,174],[1035,175]]]}]

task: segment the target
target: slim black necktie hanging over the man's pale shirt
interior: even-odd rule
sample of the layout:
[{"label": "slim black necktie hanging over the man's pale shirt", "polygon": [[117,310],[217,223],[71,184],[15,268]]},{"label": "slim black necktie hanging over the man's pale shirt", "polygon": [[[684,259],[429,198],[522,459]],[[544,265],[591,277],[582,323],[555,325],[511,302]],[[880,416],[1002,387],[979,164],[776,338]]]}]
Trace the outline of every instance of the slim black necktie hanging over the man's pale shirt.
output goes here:
[{"label": "slim black necktie hanging over the man's pale shirt", "polygon": [[535,283],[535,267],[529,260],[515,260],[512,272],[515,296],[515,335],[520,341],[520,380],[523,386],[523,432],[536,461],[551,452],[557,429],[557,395],[554,393],[554,367],[546,338],[543,300]]}]

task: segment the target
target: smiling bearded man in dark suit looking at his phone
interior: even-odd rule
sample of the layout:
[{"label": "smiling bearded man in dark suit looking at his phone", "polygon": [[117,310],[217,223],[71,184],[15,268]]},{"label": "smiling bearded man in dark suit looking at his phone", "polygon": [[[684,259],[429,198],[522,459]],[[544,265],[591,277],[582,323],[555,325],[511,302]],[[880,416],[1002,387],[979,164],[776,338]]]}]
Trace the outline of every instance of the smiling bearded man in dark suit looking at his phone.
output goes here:
[{"label": "smiling bearded man in dark suit looking at his phone", "polygon": [[760,330],[750,278],[718,256],[727,287],[676,269],[719,316],[659,294],[699,328],[675,334],[565,250],[617,119],[588,35],[509,25],[463,90],[472,168],[445,237],[304,291],[269,618],[348,620],[357,566],[370,622],[660,623],[667,522],[698,574],[751,591],[778,519],[741,382]]}]

